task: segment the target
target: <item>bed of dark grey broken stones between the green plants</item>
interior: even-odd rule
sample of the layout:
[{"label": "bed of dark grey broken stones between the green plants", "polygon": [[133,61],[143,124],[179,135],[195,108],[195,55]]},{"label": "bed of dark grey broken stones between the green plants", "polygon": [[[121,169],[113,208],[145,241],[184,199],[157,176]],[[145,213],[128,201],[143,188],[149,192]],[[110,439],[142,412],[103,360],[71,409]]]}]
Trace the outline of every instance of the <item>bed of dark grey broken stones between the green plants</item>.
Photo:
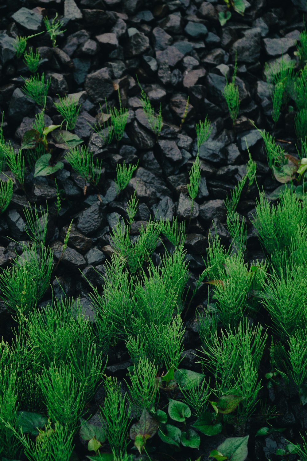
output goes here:
[{"label": "bed of dark grey broken stones between the green plants", "polygon": [[[276,138],[291,142],[282,145],[295,154],[294,112],[283,113],[274,127],[263,70],[265,62],[277,59],[282,53],[284,59],[297,59],[295,42],[303,29],[307,8],[300,0],[244,3],[244,16],[232,12],[232,18],[223,27],[218,20],[218,13],[226,11],[222,0],[15,0],[0,4],[0,113],[4,112],[6,139],[15,148],[20,147],[23,133],[32,127],[35,113],[40,111],[21,91],[23,78],[29,77],[29,71],[23,60],[16,58],[13,42],[17,35],[44,30],[43,16],[51,19],[58,12],[66,29],[57,38],[58,47],[52,48],[46,33],[29,40],[41,54],[39,71],[51,77],[46,125],[62,121],[53,106],[57,95],[74,94],[82,104],[75,133],[94,157],[103,160],[102,179],[97,188],[89,185],[84,195],[82,181],[63,160],[64,150],[54,150],[55,161],[64,161],[64,169],[55,173],[59,189],[64,190],[57,220],[51,207],[56,199],[53,176],[34,178],[33,171],[29,171],[25,181],[27,195],[14,185],[11,204],[0,218],[1,267],[10,264],[15,250],[21,251],[20,245],[7,236],[17,242],[28,238],[23,207],[28,201],[43,206],[47,200],[50,204],[47,242],[54,251],[55,261],[61,254],[68,225],[74,219],[69,246],[55,274],[57,279],[52,278],[55,296],[61,294],[60,283],[67,296],[81,296],[85,311],[93,318],[89,288],[79,269],[92,284],[101,284],[93,267],[104,274],[104,261],[112,252],[110,230],[117,217],[126,216],[126,203],[137,183],[139,209],[133,235],[138,234],[141,223],[156,213],[162,218],[189,220],[186,184],[197,152],[195,125],[208,114],[213,130],[200,148],[201,183],[191,225],[186,228],[191,284],[195,282],[203,270],[201,255],[208,245],[209,229],[214,231],[215,226],[222,242],[229,244],[224,199],[245,174],[248,160],[245,139],[257,164],[258,184],[263,185],[267,194],[279,185],[272,179],[261,136],[249,119]],[[240,111],[233,128],[221,91],[225,75],[228,79],[232,76],[236,51]],[[158,141],[148,129],[136,75],[156,110],[162,104],[163,128]],[[89,124],[97,121],[99,103],[105,107],[104,98],[109,106],[117,106],[117,88],[122,106],[129,110],[127,126],[119,145],[113,142],[105,146]],[[180,128],[188,96],[186,118]],[[136,164],[139,160],[139,166],[127,189],[117,195],[115,169],[124,160],[126,164]],[[257,196],[255,185],[248,192],[244,189],[238,208],[248,223],[250,261],[263,256],[248,222]],[[198,296],[197,303],[205,304],[205,296],[206,290]],[[49,290],[43,303],[50,299]],[[185,349],[190,352],[182,364],[186,367],[193,366],[192,350],[198,347],[193,343],[195,307],[186,322]],[[0,318],[0,335],[8,339],[13,322],[5,308],[0,311]],[[113,351],[109,355],[109,372],[121,378],[127,360],[127,352]],[[266,441],[254,438],[249,447],[250,459],[269,459],[269,453],[275,453],[276,446],[283,445],[283,437],[292,440],[297,435],[297,415],[288,408],[282,391],[274,403],[283,408],[284,416],[279,417],[278,424],[287,427],[287,432],[274,433]],[[203,447],[202,453],[208,449],[212,449],[211,443],[207,449]]]}]

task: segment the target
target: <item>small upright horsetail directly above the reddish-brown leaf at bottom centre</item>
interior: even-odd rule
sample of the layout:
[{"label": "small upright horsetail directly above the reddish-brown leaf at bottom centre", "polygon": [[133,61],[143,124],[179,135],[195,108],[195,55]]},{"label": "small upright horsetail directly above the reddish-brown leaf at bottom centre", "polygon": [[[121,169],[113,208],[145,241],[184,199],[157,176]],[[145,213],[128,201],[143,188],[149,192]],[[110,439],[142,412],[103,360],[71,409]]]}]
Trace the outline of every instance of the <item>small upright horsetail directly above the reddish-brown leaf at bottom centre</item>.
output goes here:
[{"label": "small upright horsetail directly above the reddish-brown leaf at bottom centre", "polygon": [[140,415],[144,408],[149,412],[155,407],[158,387],[156,385],[157,366],[153,365],[145,357],[140,357],[137,364],[133,364],[128,374],[130,378],[127,386],[128,399],[131,407]]}]

